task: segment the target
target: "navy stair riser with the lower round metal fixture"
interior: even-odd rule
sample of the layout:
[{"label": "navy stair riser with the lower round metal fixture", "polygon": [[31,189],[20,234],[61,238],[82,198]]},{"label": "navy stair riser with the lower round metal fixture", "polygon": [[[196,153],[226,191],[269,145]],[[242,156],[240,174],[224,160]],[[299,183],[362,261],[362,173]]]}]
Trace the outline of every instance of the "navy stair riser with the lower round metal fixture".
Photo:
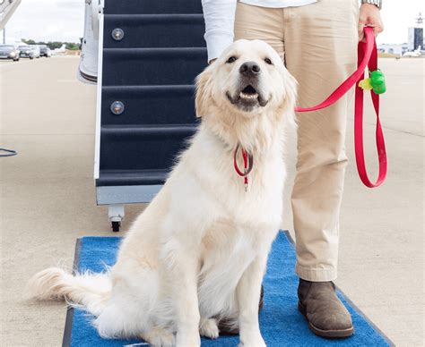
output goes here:
[{"label": "navy stair riser with the lower round metal fixture", "polygon": [[[109,86],[102,88],[102,124],[187,124],[195,123],[195,87],[180,86]],[[122,114],[113,114],[110,106],[121,101]]]}]

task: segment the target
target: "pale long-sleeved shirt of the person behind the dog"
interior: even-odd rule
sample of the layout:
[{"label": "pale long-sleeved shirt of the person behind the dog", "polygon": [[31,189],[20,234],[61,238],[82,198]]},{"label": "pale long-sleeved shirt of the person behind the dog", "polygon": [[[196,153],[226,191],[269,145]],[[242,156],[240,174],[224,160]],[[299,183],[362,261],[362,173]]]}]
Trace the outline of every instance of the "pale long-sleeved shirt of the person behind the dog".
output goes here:
[{"label": "pale long-sleeved shirt of the person behind the dog", "polygon": [[[291,7],[313,4],[317,0],[239,0],[262,7]],[[237,0],[202,0],[205,20],[205,41],[208,61],[217,58],[233,42]]]}]

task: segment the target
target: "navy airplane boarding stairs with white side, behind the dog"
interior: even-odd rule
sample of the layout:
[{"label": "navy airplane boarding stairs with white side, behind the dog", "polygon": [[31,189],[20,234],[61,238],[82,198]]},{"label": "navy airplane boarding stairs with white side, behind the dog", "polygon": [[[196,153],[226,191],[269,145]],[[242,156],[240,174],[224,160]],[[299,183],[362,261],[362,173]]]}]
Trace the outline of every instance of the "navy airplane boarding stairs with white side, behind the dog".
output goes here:
[{"label": "navy airplane boarding stairs with white side, behind the dog", "polygon": [[99,37],[96,194],[118,231],[124,205],[152,200],[195,133],[201,1],[105,0]]}]

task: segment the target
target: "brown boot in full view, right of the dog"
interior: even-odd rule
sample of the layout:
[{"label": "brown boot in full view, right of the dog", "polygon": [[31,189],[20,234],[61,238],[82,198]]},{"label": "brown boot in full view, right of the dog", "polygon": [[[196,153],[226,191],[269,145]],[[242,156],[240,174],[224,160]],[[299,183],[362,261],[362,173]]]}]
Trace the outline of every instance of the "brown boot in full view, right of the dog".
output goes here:
[{"label": "brown boot in full view, right of the dog", "polygon": [[328,338],[354,333],[350,313],[336,296],[334,283],[299,279],[298,297],[298,309],[313,333]]}]

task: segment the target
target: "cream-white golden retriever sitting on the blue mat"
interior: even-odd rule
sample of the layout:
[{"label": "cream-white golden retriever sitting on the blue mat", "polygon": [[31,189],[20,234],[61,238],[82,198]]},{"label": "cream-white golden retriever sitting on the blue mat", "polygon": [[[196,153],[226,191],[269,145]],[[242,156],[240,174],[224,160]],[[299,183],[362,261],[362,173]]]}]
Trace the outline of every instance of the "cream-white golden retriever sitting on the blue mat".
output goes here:
[{"label": "cream-white golden retriever sitting on the blue mat", "polygon": [[[103,337],[199,346],[200,334],[218,337],[225,318],[239,326],[241,345],[265,346],[258,300],[281,226],[283,128],[294,123],[296,82],[272,47],[239,40],[196,89],[199,130],[126,235],[117,264],[99,275],[48,268],[30,292],[82,306]],[[241,173],[250,171],[247,191],[235,151]]]}]

